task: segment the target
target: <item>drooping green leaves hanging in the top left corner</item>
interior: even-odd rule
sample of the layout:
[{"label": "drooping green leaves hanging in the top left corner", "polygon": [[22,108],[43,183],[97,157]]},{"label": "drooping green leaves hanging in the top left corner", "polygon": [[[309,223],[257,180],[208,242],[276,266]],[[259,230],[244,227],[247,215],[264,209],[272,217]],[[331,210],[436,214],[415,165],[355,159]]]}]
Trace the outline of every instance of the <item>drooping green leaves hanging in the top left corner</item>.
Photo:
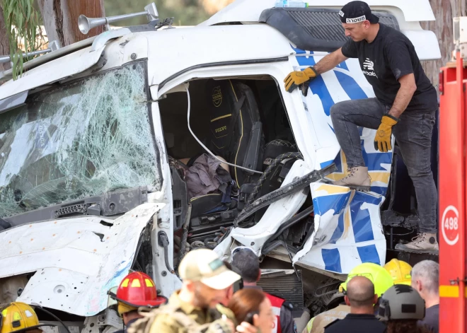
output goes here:
[{"label": "drooping green leaves hanging in the top left corner", "polygon": [[34,0],[1,0],[10,56],[13,62],[13,80],[23,74],[23,51],[32,52],[37,49],[37,32],[40,17],[34,8]]}]

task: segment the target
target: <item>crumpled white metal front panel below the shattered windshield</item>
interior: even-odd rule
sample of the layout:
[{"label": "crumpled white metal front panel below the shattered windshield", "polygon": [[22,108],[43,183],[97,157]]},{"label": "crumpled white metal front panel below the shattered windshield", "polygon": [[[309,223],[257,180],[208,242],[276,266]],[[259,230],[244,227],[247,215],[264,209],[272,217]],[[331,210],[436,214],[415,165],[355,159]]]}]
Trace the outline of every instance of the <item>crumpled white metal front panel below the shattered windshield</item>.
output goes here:
[{"label": "crumpled white metal front panel below the shattered windshield", "polygon": [[107,291],[128,273],[142,230],[163,206],[142,204],[115,220],[86,216],[4,230],[0,278],[35,272],[18,301],[96,315],[107,305]]}]

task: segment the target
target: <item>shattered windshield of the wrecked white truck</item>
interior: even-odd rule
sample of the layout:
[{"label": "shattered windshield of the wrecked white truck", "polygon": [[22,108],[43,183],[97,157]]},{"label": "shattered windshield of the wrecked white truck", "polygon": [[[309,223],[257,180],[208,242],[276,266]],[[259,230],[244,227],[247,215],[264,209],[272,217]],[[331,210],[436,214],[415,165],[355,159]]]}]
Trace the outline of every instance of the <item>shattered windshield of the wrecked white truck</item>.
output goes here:
[{"label": "shattered windshield of the wrecked white truck", "polygon": [[0,217],[117,189],[160,188],[145,63],[31,95],[0,114]]}]

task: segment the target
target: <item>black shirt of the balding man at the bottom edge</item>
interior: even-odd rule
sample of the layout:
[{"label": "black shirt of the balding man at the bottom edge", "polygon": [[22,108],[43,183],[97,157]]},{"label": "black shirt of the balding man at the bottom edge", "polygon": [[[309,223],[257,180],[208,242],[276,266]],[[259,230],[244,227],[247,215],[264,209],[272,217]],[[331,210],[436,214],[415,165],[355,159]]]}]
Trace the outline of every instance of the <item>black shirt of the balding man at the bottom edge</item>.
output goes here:
[{"label": "black shirt of the balding man at the bottom edge", "polygon": [[355,315],[349,313],[344,319],[331,322],[324,333],[384,333],[386,325],[374,315]]}]

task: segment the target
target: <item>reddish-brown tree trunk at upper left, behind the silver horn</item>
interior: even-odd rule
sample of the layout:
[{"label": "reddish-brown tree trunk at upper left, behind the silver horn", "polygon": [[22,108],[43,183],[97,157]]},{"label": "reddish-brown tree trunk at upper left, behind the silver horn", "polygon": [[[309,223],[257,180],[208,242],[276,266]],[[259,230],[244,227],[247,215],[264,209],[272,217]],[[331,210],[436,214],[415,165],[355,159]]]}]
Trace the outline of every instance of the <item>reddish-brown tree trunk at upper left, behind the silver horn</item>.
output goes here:
[{"label": "reddish-brown tree trunk at upper left, behind the silver horn", "polygon": [[61,47],[99,35],[104,27],[92,29],[83,35],[78,28],[78,17],[83,14],[91,18],[105,16],[104,0],[38,0],[47,39],[57,40]]}]

